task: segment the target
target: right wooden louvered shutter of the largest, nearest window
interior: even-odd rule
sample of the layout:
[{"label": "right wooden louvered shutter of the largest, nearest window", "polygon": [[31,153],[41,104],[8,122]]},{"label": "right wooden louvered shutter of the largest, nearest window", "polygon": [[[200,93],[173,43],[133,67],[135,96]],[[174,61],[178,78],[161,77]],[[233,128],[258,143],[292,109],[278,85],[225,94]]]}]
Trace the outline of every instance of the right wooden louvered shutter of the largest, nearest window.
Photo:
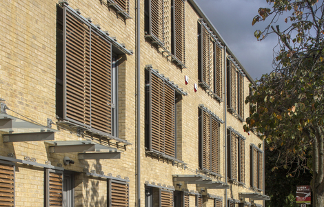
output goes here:
[{"label": "right wooden louvered shutter of the largest, nearest window", "polygon": [[111,46],[91,32],[91,126],[112,133]]}]

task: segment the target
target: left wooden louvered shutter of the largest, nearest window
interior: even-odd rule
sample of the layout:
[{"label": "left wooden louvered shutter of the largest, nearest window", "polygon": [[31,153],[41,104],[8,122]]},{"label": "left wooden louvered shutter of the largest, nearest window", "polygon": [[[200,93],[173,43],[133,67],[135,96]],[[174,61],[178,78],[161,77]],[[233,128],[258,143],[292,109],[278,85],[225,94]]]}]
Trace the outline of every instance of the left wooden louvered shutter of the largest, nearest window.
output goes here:
[{"label": "left wooden louvered shutter of the largest, nearest window", "polygon": [[90,28],[66,12],[66,117],[90,126]]}]

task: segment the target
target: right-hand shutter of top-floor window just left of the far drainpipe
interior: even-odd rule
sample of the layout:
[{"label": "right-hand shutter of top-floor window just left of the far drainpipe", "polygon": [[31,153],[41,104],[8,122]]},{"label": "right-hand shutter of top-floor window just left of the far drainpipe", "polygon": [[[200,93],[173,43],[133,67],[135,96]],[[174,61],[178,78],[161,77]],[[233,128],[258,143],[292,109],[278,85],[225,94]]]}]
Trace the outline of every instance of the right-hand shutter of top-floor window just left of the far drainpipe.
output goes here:
[{"label": "right-hand shutter of top-floor window just left of the far drainpipe", "polygon": [[223,97],[223,55],[222,49],[214,43],[214,93]]}]

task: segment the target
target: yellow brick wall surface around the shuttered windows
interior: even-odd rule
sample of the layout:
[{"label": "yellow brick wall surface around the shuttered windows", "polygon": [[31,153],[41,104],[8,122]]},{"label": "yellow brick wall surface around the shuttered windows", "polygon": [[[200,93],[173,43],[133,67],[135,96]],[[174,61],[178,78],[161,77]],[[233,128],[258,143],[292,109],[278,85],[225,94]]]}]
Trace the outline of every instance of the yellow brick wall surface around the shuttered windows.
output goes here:
[{"label": "yellow brick wall surface around the shuttered windows", "polygon": [[[46,119],[54,122],[56,119],[56,11],[58,1],[10,1],[0,2],[0,98],[6,99],[8,114],[26,119],[19,114],[46,125]],[[168,1],[170,3],[170,1]],[[107,8],[100,1],[70,0],[69,6],[79,9],[83,17],[91,17],[94,24],[100,24],[102,30],[108,30],[111,37],[117,37],[119,43],[125,43],[125,47],[135,51],[135,1],[130,1],[130,17],[123,19],[121,15]],[[141,1],[141,206],[144,206],[144,183],[149,181],[156,184],[173,186],[172,175],[194,174],[199,168],[199,128],[198,112],[199,104],[203,104],[214,112],[222,120],[224,115],[224,102],[216,101],[208,93],[199,87],[194,92],[194,83],[198,84],[198,45],[197,23],[199,15],[194,8],[185,1],[185,65],[182,70],[177,68],[168,57],[165,57],[161,49],[156,48],[144,37],[144,1]],[[170,38],[170,16],[167,14],[167,34]],[[170,48],[170,39],[166,40]],[[45,164],[50,160],[53,166],[63,164],[63,157],[68,156],[75,161],[74,165],[64,166],[65,170],[83,172],[83,168],[89,170],[101,170],[105,175],[129,177],[130,179],[130,206],[135,206],[136,199],[136,61],[135,55],[119,56],[119,138],[127,139],[132,145],[122,151],[121,159],[106,160],[79,160],[77,152],[50,153],[48,144],[43,141],[29,141],[3,144],[0,136],[0,155],[7,156],[13,153],[14,158],[23,159],[25,156],[35,157],[38,163]],[[188,92],[181,101],[181,130],[178,131],[179,159],[187,165],[173,166],[170,161],[156,159],[145,154],[145,66],[159,70],[165,77],[179,85]],[[185,85],[184,77],[189,77],[188,85]],[[224,75],[224,73],[223,73]],[[224,77],[223,77],[224,80]],[[248,95],[250,81],[245,77],[245,95]],[[223,88],[224,92],[224,88]],[[18,112],[19,114],[15,113]],[[245,105],[245,117],[249,115],[249,106]],[[249,156],[250,143],[258,145],[261,141],[254,135],[243,132],[243,123],[227,112],[227,126],[232,126],[247,138],[245,141],[245,155]],[[53,126],[56,128],[56,126]],[[225,181],[225,141],[224,124],[220,128],[220,153],[221,153],[221,177]],[[5,132],[1,132],[5,133]],[[83,140],[70,134],[67,130],[55,133],[55,140]],[[43,206],[43,169],[30,167],[23,164],[17,165],[16,172],[16,206]],[[250,159],[245,159],[245,187],[232,185],[227,190],[228,197],[239,199],[238,193],[251,192],[250,187]],[[107,204],[106,181],[87,177],[83,173],[75,177],[75,206],[98,206]],[[185,184],[183,188],[199,190],[194,184]],[[30,190],[28,190],[30,189]],[[225,197],[225,190],[207,190],[212,195]],[[223,201],[225,203],[225,201]],[[261,202],[258,202],[262,204]],[[190,205],[194,204],[194,197],[190,196]],[[205,206],[211,206],[211,202],[205,202]]]}]

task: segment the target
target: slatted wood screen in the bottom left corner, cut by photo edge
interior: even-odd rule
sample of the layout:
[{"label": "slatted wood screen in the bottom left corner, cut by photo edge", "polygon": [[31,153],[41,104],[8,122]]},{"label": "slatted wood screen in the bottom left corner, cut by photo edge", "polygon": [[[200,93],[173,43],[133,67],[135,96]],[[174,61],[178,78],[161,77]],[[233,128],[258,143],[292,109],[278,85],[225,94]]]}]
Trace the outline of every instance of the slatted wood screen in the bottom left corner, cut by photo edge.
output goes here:
[{"label": "slatted wood screen in the bottom left corner, cut by photo edge", "polygon": [[14,206],[14,166],[1,162],[0,206]]}]

